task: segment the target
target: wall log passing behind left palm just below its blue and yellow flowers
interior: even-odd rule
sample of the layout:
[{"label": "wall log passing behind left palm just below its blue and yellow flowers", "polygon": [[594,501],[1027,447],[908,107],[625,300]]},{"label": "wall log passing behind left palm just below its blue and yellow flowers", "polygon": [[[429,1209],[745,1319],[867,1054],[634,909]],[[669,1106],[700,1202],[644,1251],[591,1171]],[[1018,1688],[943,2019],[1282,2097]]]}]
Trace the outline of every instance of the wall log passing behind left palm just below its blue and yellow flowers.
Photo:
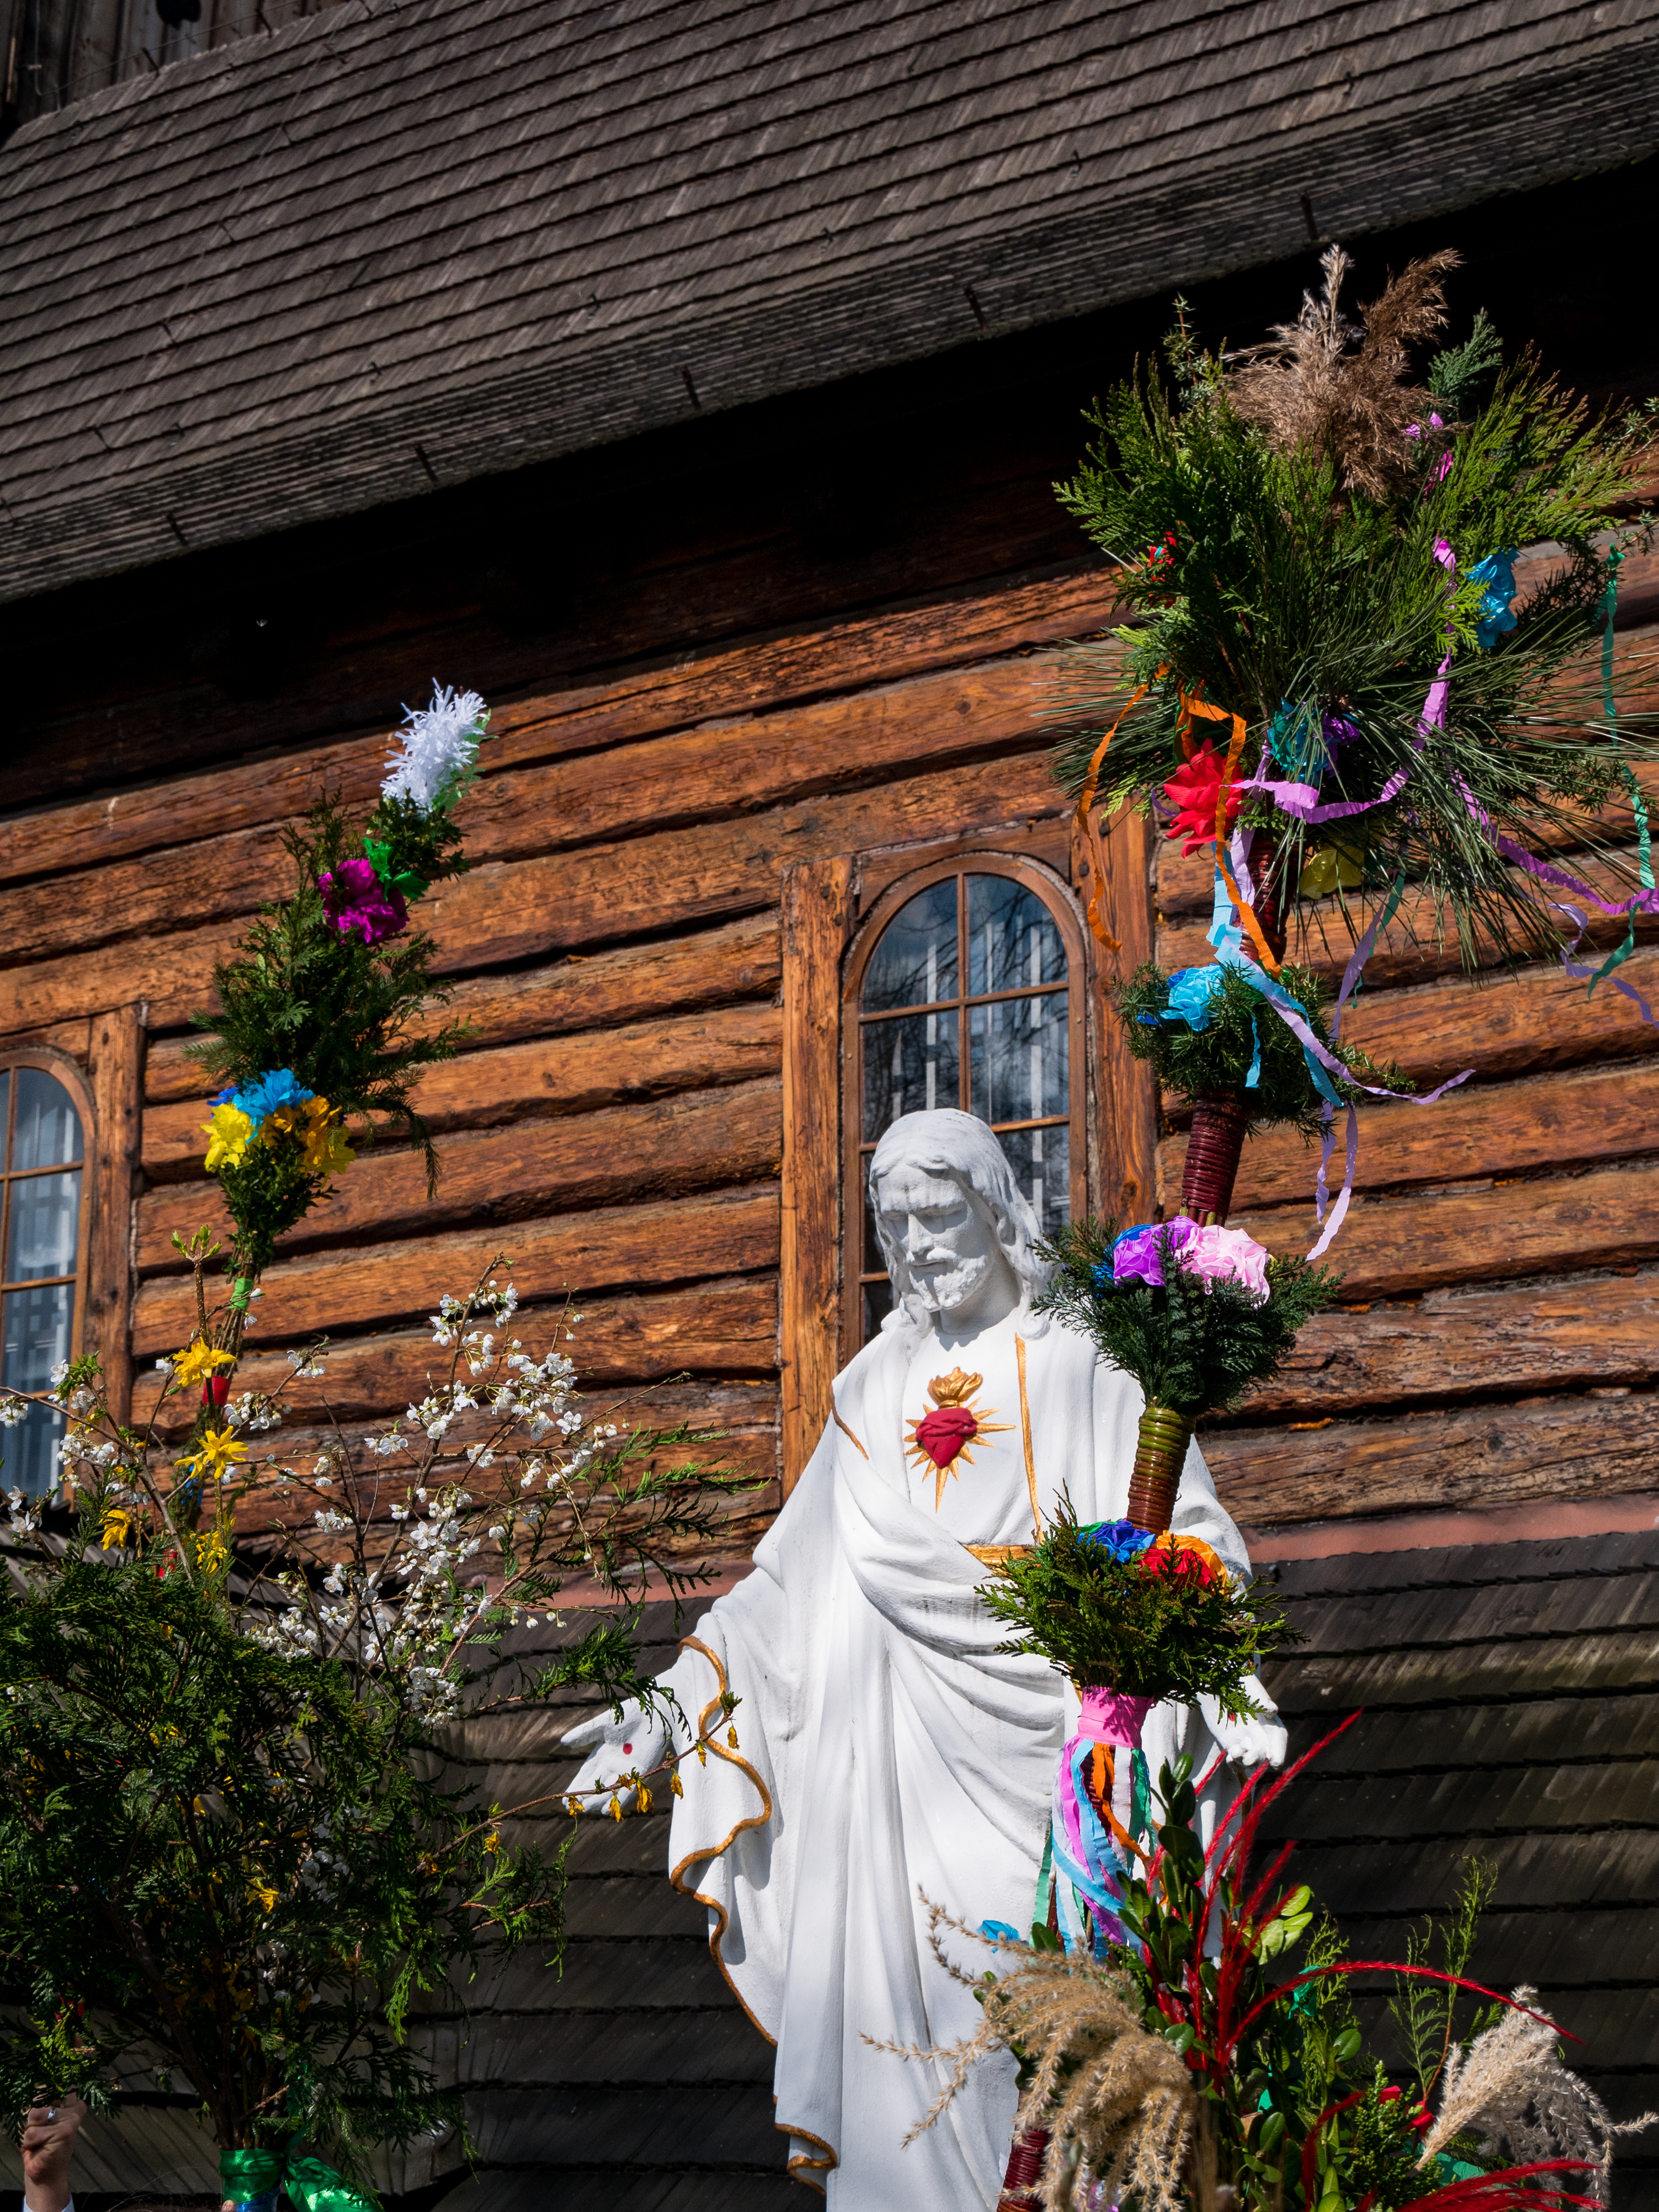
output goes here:
[{"label": "wall log passing behind left palm just below its blue and yellow flowers", "polygon": [[[365,1239],[414,1237],[462,1221],[507,1223],[575,1206],[664,1199],[688,1190],[752,1183],[779,1172],[783,1086],[739,1084],[648,1106],[502,1130],[462,1130],[442,1144],[438,1194],[427,1194],[420,1152],[372,1150],[334,1183],[279,1252]],[[137,1263],[179,1267],[173,1234],[230,1234],[217,1183],[164,1183],[139,1199]]]}]

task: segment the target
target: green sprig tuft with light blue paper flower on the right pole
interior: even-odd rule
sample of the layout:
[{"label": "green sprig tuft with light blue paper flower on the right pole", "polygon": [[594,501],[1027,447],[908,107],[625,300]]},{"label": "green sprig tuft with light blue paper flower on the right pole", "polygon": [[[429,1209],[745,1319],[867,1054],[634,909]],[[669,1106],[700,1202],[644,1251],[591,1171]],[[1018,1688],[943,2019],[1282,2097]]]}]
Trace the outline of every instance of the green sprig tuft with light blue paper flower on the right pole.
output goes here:
[{"label": "green sprig tuft with light blue paper flower on the right pole", "polygon": [[[1170,1006],[1170,984],[1194,973],[1208,978],[1210,991],[1201,1026]],[[1281,969],[1279,982],[1303,1009],[1318,1042],[1334,1051],[1343,1066],[1352,1068],[1356,1082],[1387,1091],[1413,1088],[1400,1068],[1371,1060],[1356,1044],[1332,1046],[1325,1013],[1329,989],[1314,969],[1287,964]],[[1301,1044],[1228,962],[1166,975],[1157,962],[1144,960],[1117,987],[1113,1004],[1130,1053],[1152,1064],[1161,1088],[1177,1091],[1188,1099],[1239,1095],[1250,1108],[1252,1128],[1287,1124],[1303,1137],[1318,1135],[1321,1097],[1307,1073]],[[1256,1082],[1245,1088],[1252,1068],[1256,1068]],[[1356,1084],[1345,1084],[1340,1075],[1332,1079],[1332,1086],[1343,1104],[1363,1095]]]}]

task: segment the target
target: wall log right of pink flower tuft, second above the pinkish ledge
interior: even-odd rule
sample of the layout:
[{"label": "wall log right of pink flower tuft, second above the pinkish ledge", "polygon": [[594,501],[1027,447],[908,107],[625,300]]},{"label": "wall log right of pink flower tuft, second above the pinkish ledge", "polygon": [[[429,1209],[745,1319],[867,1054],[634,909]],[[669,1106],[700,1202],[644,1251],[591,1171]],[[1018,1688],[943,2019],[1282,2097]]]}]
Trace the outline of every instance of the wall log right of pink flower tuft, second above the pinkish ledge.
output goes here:
[{"label": "wall log right of pink flower tuft, second above the pinkish ledge", "polygon": [[1316,1314],[1237,1420],[1250,1427],[1422,1398],[1657,1380],[1659,1276],[1644,1270],[1548,1287],[1436,1290],[1409,1305]]}]

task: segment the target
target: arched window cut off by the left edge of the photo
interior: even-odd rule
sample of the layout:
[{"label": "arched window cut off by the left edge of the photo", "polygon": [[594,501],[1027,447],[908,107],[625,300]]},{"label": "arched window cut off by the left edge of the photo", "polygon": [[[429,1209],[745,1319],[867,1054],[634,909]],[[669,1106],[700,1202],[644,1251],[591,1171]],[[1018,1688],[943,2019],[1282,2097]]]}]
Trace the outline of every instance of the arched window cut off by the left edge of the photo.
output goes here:
[{"label": "arched window cut off by the left edge of the photo", "polygon": [[[0,1383],[40,1391],[51,1389],[53,1367],[73,1354],[82,1318],[82,1113],[51,1068],[13,1062],[0,1066]],[[44,1407],[0,1431],[0,1484],[35,1495],[55,1489],[62,1431],[64,1416]]]}]

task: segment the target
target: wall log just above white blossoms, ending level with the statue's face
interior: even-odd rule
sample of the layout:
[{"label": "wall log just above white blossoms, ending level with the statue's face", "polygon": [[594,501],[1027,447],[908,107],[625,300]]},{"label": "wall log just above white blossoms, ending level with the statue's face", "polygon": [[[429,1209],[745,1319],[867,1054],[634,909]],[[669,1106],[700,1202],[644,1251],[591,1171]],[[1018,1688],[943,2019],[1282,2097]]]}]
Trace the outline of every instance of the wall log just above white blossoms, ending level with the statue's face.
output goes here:
[{"label": "wall log just above white blossoms, ending level with the statue's face", "polygon": [[[305,1343],[330,1329],[420,1321],[445,1292],[462,1296],[507,1252],[520,1296],[637,1292],[706,1276],[754,1274],[779,1263],[779,1186],[701,1192],[666,1206],[593,1208],[502,1230],[451,1230],[279,1261],[265,1270],[248,1345]],[[155,1358],[188,1345],[195,1292],[188,1276],[139,1283],[133,1354]]]}]

